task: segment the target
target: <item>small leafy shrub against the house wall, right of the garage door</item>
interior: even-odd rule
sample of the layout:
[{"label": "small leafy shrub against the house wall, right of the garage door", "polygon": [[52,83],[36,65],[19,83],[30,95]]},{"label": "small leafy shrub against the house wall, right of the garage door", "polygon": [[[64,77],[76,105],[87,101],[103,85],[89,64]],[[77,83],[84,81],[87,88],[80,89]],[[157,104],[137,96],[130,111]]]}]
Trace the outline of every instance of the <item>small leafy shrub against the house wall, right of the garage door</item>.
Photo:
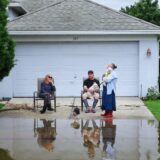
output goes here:
[{"label": "small leafy shrub against the house wall, right of the garage door", "polygon": [[148,88],[147,96],[145,97],[146,100],[156,100],[160,98],[159,89],[157,86]]}]

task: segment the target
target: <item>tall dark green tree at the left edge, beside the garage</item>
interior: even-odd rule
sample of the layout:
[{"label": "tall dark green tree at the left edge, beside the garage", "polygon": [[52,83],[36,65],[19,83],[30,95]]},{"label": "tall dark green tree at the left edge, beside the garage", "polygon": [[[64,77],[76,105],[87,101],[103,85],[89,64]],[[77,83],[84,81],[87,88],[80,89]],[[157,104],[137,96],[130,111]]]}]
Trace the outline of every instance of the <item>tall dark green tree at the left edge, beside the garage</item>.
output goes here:
[{"label": "tall dark green tree at the left edge, beside the garage", "polygon": [[0,0],[0,81],[14,67],[15,44],[7,30],[7,0]]}]

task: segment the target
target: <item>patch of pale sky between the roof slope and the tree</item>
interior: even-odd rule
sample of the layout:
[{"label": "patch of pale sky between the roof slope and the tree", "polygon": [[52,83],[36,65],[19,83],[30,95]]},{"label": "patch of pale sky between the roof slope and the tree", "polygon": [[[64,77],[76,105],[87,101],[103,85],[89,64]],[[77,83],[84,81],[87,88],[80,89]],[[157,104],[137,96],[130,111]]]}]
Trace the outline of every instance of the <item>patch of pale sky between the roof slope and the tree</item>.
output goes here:
[{"label": "patch of pale sky between the roof slope and the tree", "polygon": [[[121,7],[130,6],[139,0],[93,0],[112,9],[120,10]],[[159,0],[160,1],[160,0]]]}]

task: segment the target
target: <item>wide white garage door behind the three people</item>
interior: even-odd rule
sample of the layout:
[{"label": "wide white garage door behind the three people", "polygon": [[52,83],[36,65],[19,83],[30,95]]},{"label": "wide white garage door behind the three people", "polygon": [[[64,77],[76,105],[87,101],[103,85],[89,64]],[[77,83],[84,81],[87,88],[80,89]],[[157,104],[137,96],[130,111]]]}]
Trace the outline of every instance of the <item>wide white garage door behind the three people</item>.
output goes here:
[{"label": "wide white garage door behind the three people", "polygon": [[117,95],[138,95],[138,42],[19,43],[13,72],[13,96],[32,96],[37,78],[51,73],[58,96],[79,96],[82,78],[92,69],[101,77],[117,64]]}]

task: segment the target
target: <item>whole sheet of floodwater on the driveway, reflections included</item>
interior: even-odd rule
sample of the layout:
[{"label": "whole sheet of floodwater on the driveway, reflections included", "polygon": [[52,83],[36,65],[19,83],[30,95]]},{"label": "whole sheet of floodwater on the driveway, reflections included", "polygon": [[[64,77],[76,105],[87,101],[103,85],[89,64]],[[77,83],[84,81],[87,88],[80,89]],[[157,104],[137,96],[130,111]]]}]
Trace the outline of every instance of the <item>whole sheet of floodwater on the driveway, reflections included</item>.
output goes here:
[{"label": "whole sheet of floodwater on the driveway, reflections included", "polygon": [[154,120],[0,118],[0,160],[158,160]]}]

